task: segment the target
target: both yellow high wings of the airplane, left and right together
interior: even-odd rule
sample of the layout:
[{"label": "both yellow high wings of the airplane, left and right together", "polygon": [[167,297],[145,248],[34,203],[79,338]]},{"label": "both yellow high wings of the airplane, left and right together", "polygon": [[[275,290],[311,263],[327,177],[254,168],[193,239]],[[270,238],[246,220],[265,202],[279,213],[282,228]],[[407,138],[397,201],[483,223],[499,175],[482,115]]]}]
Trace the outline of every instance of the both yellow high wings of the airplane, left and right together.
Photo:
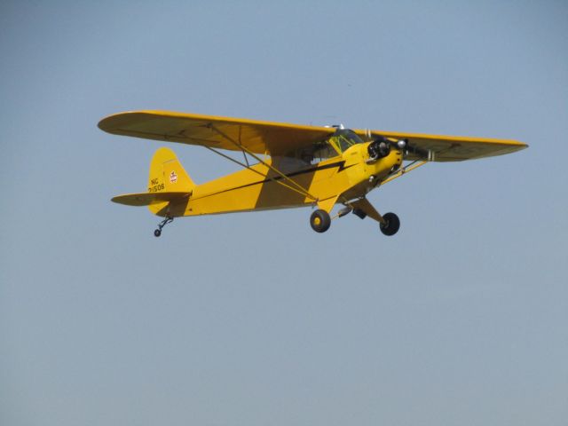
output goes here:
[{"label": "both yellow high wings of the airplane, left and right together", "polygon": [[[312,147],[334,134],[335,129],[281,122],[263,122],[214,115],[168,111],[133,111],[110,115],[99,128],[115,135],[178,142],[188,145],[284,156]],[[354,130],[369,140],[378,136],[407,139],[412,149],[406,160],[461,162],[510,154],[527,147],[517,140],[426,135],[382,130]]]}]

